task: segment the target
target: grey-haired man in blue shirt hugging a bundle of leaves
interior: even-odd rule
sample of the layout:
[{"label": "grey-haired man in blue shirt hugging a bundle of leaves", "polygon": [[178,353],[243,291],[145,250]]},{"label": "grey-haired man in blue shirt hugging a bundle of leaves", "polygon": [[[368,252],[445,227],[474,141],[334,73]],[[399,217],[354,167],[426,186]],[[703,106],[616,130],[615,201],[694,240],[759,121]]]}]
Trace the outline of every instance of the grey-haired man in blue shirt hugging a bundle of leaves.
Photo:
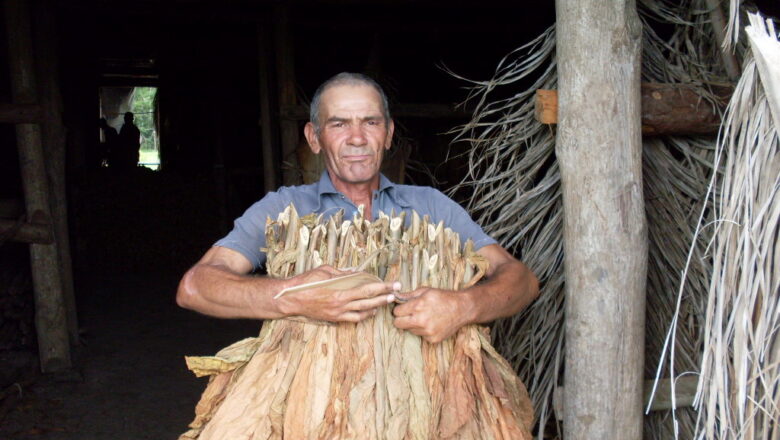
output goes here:
[{"label": "grey-haired man in blue shirt hugging a bundle of leaves", "polygon": [[[277,319],[302,315],[327,321],[357,322],[395,300],[394,324],[429,342],[439,342],[471,323],[511,316],[538,295],[536,277],[525,265],[488,237],[455,202],[433,188],[395,185],[379,172],[390,148],[393,121],[387,98],[372,79],[341,73],[326,81],[314,95],[311,121],[304,134],[315,154],[325,155],[327,171],[318,183],[284,187],[270,193],[236,220],[235,228],[209,249],[182,278],[180,306],[224,318]],[[266,216],[276,218],[289,203],[301,215],[333,214],[346,218],[360,205],[369,218],[378,211],[416,210],[444,223],[465,240],[475,242],[487,258],[487,279],[454,292],[420,288],[400,293],[398,283],[372,283],[343,291],[309,289],[274,300],[280,290],[343,275],[329,266],[289,279],[248,276],[265,258]]]}]

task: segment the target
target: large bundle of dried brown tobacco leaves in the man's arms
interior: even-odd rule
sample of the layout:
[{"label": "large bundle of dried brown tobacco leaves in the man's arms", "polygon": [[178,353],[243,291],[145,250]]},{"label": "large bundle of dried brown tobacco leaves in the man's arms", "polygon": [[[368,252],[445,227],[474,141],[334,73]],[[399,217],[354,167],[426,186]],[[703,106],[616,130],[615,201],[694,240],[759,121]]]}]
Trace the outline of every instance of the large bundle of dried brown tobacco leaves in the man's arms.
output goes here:
[{"label": "large bundle of dried brown tobacco leaves in the man's arms", "polygon": [[[412,212],[366,220],[299,217],[293,206],[266,225],[270,276],[322,264],[367,280],[458,290],[487,261],[441,222]],[[334,285],[335,286],[335,285]],[[334,287],[334,292],[335,292]],[[187,357],[209,375],[184,439],[528,439],[533,408],[486,328],[438,344],[393,326],[392,307],[359,323],[296,317],[265,321],[257,338],[213,357]]]}]

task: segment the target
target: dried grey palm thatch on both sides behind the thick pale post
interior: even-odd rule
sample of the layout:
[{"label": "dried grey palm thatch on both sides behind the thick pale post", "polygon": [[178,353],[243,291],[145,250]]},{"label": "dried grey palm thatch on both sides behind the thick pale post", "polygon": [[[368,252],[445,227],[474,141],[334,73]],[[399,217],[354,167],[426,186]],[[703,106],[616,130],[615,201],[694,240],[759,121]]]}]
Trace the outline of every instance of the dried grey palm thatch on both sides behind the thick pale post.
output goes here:
[{"label": "dried grey palm thatch on both sides behind the thick pale post", "polygon": [[[644,21],[643,80],[695,85],[702,99],[714,102],[710,88],[728,84],[729,79],[708,2],[643,0],[639,9]],[[662,38],[654,31],[656,23],[672,26],[672,32]],[[456,141],[470,147],[465,153],[469,173],[453,192],[468,188],[472,194],[468,208],[477,221],[542,281],[542,295],[533,305],[493,328],[497,348],[528,386],[542,427],[537,431],[540,439],[555,435],[546,428],[552,420],[553,391],[562,376],[564,347],[563,233],[555,134],[533,117],[534,92],[556,86],[554,46],[551,27],[507,55],[492,79],[467,80],[472,88],[466,102],[473,105],[474,116],[454,130]],[[515,91],[518,88],[522,90]],[[651,241],[647,377],[679,377],[699,370],[712,263],[700,248],[690,249],[696,225],[712,219],[711,200],[705,195],[717,169],[714,154],[713,138],[645,139],[643,173]],[[703,230],[696,240],[707,241],[710,236],[711,230]],[[683,277],[686,291],[678,296]],[[662,358],[670,328],[676,348],[673,364]],[[692,409],[655,412],[646,418],[645,432],[649,438],[677,434],[692,438],[695,425]]]}]

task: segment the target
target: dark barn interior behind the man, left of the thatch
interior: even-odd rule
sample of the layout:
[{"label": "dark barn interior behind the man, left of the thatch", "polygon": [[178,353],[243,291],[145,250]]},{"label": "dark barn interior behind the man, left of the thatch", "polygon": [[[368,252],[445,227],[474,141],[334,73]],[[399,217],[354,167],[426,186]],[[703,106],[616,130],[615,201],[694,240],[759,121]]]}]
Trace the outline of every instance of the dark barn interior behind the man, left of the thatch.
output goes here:
[{"label": "dark barn interior behind the man, left of the thatch", "polygon": [[[447,132],[469,111],[456,107],[469,83],[448,71],[490,77],[555,17],[552,2],[503,0],[17,3],[30,17],[41,104],[59,114],[64,171],[50,180],[67,212],[74,304],[71,367],[41,375],[30,245],[4,229],[0,437],[14,439],[182,432],[203,386],[182,357],[255,335],[259,323],[178,309],[178,279],[265,192],[308,178],[300,132],[317,85],[341,71],[376,78],[400,128],[393,178],[446,189],[464,173]],[[0,102],[10,103],[7,20]],[[99,119],[120,131],[131,110],[148,155],[117,169],[101,153]],[[15,129],[0,124],[0,218],[18,225]]]}]

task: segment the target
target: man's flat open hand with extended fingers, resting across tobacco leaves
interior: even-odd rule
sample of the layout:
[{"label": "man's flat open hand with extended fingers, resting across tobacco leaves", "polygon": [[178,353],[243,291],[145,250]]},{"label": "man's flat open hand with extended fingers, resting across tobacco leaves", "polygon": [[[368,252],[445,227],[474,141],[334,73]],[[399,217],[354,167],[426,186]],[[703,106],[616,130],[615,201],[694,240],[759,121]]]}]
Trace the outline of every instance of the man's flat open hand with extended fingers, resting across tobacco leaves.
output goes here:
[{"label": "man's flat open hand with extended fingers, resting across tobacco leaves", "polygon": [[[288,286],[327,280],[349,272],[320,266],[290,278]],[[314,288],[291,292],[278,298],[279,309],[287,316],[305,316],[323,321],[359,322],[376,314],[377,307],[392,302],[400,283],[371,283],[347,290]]]}]

